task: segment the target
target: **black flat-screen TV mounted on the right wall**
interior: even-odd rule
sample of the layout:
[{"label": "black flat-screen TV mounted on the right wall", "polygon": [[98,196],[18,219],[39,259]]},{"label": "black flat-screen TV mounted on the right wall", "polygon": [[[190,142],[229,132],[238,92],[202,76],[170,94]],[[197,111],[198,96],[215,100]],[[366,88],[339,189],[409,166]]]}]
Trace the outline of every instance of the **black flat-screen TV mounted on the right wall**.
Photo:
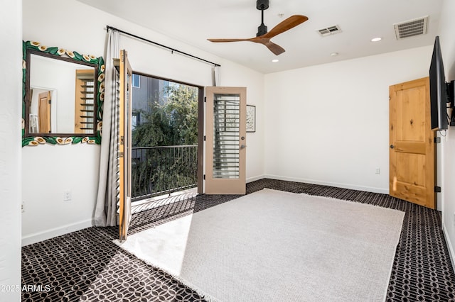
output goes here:
[{"label": "black flat-screen TV mounted on the right wall", "polygon": [[429,67],[429,97],[432,112],[432,130],[447,129],[447,91],[439,36],[434,40],[432,63]]}]

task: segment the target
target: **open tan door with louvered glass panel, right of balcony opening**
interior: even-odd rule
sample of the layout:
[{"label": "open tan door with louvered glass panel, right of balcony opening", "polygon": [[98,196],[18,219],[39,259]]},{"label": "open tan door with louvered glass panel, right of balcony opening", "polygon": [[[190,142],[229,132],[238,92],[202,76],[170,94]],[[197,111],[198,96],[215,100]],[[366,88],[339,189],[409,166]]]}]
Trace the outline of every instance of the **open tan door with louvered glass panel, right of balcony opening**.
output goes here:
[{"label": "open tan door with louvered glass panel, right of balcony opening", "polygon": [[245,87],[205,88],[205,194],[246,192]]}]

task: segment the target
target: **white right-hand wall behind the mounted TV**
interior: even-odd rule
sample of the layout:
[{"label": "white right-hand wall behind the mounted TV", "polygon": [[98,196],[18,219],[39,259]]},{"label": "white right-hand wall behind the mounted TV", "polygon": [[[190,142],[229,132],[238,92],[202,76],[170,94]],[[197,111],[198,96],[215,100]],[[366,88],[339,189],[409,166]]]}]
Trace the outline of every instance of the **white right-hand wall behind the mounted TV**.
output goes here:
[{"label": "white right-hand wall behind the mounted TV", "polygon": [[[455,79],[455,2],[444,0],[439,23],[439,39],[444,61],[446,81]],[[455,259],[455,129],[449,127],[446,137],[439,145],[441,160],[439,164],[439,184],[441,184],[442,224],[452,264]],[[455,267],[455,265],[454,265]]]}]

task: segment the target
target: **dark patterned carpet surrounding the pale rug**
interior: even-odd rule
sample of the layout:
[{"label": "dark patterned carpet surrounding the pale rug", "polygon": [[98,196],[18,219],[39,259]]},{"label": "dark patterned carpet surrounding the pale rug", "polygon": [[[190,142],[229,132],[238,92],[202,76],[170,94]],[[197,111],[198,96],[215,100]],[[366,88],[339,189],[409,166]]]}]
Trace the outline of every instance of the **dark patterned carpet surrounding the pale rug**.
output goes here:
[{"label": "dark patterned carpet surrounding the pale rug", "polygon": [[[247,184],[247,194],[264,188],[405,211],[387,301],[455,301],[455,274],[438,211],[385,194],[273,179]],[[136,213],[129,235],[237,197],[203,195]],[[22,286],[29,289],[22,301],[203,301],[120,249],[112,242],[117,235],[114,227],[87,228],[22,247]]]}]

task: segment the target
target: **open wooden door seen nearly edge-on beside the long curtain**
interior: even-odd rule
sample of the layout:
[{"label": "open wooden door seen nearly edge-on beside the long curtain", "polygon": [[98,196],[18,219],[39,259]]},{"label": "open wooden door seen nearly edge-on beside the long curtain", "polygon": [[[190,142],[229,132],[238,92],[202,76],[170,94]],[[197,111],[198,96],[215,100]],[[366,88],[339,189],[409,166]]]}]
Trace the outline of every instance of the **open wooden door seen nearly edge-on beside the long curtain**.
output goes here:
[{"label": "open wooden door seen nearly edge-on beside the long curtain", "polygon": [[131,116],[132,68],[127,51],[120,51],[119,60],[119,240],[127,240],[131,213]]}]

